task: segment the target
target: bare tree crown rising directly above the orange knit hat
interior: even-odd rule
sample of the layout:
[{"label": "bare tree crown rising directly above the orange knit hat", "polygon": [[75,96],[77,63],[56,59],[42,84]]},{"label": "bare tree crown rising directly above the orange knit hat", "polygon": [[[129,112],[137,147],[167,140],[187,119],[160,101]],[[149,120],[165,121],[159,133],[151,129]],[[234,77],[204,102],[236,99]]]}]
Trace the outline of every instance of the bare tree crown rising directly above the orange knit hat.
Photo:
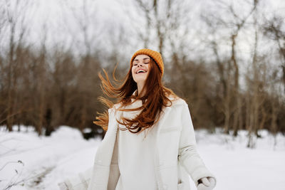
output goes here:
[{"label": "bare tree crown rising directly above the orange knit hat", "polygon": [[[177,0],[135,0],[134,7],[135,14],[129,13],[131,24],[136,28],[145,48],[157,43],[157,50],[163,56],[167,51],[165,45],[170,44],[170,37],[174,40],[175,34],[181,32],[180,24],[187,20],[189,6]],[[138,13],[142,13],[143,17]],[[138,22],[140,19],[145,22]]]}]

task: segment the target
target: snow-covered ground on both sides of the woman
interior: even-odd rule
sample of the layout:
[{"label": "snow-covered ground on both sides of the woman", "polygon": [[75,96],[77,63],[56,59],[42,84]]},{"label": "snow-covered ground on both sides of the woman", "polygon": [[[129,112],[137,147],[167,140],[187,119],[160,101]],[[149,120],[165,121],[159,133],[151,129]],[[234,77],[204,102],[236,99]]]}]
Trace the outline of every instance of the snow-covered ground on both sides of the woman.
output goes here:
[{"label": "snow-covered ground on both sides of the woman", "polygon": [[[196,131],[199,154],[217,176],[217,190],[284,190],[285,137],[266,131],[248,149],[247,133],[236,138]],[[51,137],[38,137],[31,128],[0,130],[0,189],[58,189],[58,182],[93,165],[100,139],[85,140],[78,130],[62,126]],[[196,189],[191,184],[192,190]]]}]

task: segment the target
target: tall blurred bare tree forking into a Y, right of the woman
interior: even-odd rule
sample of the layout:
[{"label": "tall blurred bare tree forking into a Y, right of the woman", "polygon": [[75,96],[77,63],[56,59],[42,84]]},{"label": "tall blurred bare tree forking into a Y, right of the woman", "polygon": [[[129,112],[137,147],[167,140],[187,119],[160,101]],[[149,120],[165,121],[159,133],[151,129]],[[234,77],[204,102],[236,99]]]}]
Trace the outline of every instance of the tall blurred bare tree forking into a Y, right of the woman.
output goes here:
[{"label": "tall blurred bare tree forking into a Y, right of the woman", "polygon": [[[244,1],[242,3],[244,3]],[[217,5],[219,9],[226,11],[229,16],[222,17],[214,14],[206,14],[203,15],[202,18],[206,21],[209,28],[212,28],[212,31],[215,31],[213,28],[217,26],[222,26],[229,30],[229,41],[231,43],[230,55],[229,60],[224,61],[224,64],[221,63],[221,59],[219,58],[217,42],[212,41],[210,44],[212,45],[214,55],[216,56],[217,70],[224,92],[222,109],[224,112],[224,132],[229,133],[229,129],[232,128],[236,135],[237,130],[242,127],[242,96],[240,94],[239,86],[240,73],[236,50],[237,37],[239,36],[239,33],[246,28],[246,24],[250,17],[257,9],[258,1],[254,1],[254,4],[249,11],[244,15],[237,14],[237,10],[234,8],[233,4],[217,1]],[[211,20],[214,20],[214,23],[216,24],[212,24]]]}]

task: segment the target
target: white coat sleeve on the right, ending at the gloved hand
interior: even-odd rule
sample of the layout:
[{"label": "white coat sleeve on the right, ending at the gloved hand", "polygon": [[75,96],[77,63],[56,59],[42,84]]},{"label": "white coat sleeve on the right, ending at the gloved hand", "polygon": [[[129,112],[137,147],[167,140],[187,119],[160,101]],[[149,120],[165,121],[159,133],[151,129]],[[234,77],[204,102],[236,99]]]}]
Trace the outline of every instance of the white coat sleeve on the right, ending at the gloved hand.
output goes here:
[{"label": "white coat sleeve on the right, ending at the gloved hand", "polygon": [[198,180],[211,176],[216,181],[214,175],[205,167],[204,162],[197,152],[194,127],[190,116],[190,111],[186,102],[182,105],[181,112],[182,131],[180,134],[180,144],[178,159],[184,169],[190,174],[197,186]]}]

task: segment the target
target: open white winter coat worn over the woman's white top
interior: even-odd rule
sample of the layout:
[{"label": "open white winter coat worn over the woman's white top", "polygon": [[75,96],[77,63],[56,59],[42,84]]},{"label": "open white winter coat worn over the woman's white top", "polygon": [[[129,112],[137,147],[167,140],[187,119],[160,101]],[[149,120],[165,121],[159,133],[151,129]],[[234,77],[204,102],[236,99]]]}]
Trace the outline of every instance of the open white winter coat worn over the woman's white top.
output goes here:
[{"label": "open white winter coat worn over the woman's white top", "polygon": [[[140,105],[141,100],[136,100],[127,108]],[[95,154],[92,171],[79,174],[77,179],[66,180],[68,189],[83,190],[87,189],[87,186],[88,190],[115,189],[120,176],[116,119],[120,118],[121,113],[116,110],[117,108],[114,106],[108,110],[108,130]],[[133,117],[137,113],[128,114]],[[197,153],[195,132],[185,100],[172,99],[172,105],[163,109],[160,120],[153,127],[158,127],[156,144],[153,144],[156,149],[155,176],[158,190],[190,190],[188,174],[196,186],[199,179],[214,177]]]}]

